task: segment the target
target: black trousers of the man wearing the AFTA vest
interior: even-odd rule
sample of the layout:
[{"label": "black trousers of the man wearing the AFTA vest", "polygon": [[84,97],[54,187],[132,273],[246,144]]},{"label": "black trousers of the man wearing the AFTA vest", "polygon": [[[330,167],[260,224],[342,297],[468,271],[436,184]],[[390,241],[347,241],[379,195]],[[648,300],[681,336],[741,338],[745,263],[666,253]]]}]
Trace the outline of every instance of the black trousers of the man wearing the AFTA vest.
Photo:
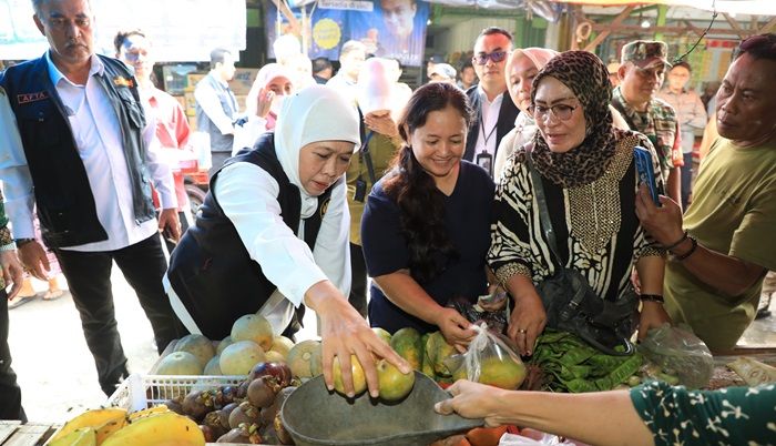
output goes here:
[{"label": "black trousers of the man wearing the AFTA vest", "polygon": [[116,384],[129,375],[113,306],[113,261],[137,294],[140,305],[151,322],[159,353],[171,341],[186,334],[162,286],[167,264],[159,234],[116,251],[54,250],[54,253],[81,316],[83,335],[94,357],[100,387],[105,395],[112,395]]}]

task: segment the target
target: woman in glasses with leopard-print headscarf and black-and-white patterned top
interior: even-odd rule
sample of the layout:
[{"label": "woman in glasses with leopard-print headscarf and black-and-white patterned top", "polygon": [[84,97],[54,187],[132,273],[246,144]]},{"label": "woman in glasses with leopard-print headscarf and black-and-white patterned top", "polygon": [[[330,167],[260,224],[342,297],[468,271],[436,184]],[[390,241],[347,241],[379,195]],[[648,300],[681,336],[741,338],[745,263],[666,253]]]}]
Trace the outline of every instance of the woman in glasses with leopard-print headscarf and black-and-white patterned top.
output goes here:
[{"label": "woman in glasses with leopard-print headscarf and black-and-white patterned top", "polygon": [[[603,62],[585,51],[566,51],[537,74],[531,91],[539,131],[510,158],[496,192],[491,268],[514,298],[508,334],[530,355],[547,323],[535,285],[561,267],[586,278],[602,300],[632,294],[631,272],[641,277],[640,333],[668,321],[663,292],[663,252],[653,246],[635,214],[637,173],[633,149],[643,135],[615,129],[612,85]],[[558,256],[541,229],[527,146],[547,196]],[[654,171],[660,172],[653,153]],[[657,173],[660,175],[660,173]],[[662,189],[662,179],[656,179]],[[637,300],[634,305],[637,305]],[[634,308],[635,311],[636,308]]]}]

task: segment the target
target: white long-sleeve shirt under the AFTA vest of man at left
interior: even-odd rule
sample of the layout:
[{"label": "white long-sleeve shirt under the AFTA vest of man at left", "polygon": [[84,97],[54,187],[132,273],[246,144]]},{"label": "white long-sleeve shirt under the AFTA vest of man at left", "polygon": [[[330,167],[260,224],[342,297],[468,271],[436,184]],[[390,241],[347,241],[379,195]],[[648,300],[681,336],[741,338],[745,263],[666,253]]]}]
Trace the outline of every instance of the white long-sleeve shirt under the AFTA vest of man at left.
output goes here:
[{"label": "white long-sleeve shirt under the AFTA vest of man at left", "polygon": [[[104,65],[95,55],[85,85],[71,82],[52,62],[49,53],[49,77],[68,112],[68,121],[86,171],[100,223],[108,240],[63,247],[72,251],[99,252],[120,250],[141,242],[157,231],[155,219],[135,222],[131,176],[121,140],[119,116],[94,75],[104,72]],[[99,116],[100,119],[95,119]],[[173,176],[170,166],[157,160],[159,148],[154,135],[154,122],[146,122],[143,141],[146,144],[145,162],[162,207],[177,207]],[[0,158],[0,178],[7,194],[6,209],[18,239],[34,237],[32,178],[23,149],[11,146],[10,153]]]}]

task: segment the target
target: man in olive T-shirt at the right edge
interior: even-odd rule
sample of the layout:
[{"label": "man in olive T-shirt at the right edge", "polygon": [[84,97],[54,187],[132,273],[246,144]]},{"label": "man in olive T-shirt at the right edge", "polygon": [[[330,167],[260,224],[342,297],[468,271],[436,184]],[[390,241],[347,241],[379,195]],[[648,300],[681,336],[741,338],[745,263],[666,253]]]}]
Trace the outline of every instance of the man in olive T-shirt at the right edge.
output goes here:
[{"label": "man in olive T-shirt at the right edge", "polygon": [[[713,352],[728,351],[754,320],[763,277],[776,270],[776,34],[742,42],[717,93],[719,138],[701,166],[684,221],[673,200],[636,214],[667,249],[665,304]],[[686,231],[686,232],[685,232]]]}]

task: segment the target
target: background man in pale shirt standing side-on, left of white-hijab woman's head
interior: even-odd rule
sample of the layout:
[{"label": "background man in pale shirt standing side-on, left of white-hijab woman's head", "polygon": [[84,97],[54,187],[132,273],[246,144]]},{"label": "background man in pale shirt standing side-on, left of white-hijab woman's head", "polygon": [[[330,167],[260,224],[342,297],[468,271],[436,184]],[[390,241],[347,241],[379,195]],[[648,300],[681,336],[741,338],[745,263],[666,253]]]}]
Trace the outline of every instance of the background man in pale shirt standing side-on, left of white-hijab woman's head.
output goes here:
[{"label": "background man in pale shirt standing side-on, left of white-hijab woman's head", "polygon": [[237,124],[237,99],[228,82],[234,78],[234,57],[228,50],[211,51],[211,72],[194,89],[196,100],[196,129],[211,136],[211,176],[232,156],[235,125]]}]

